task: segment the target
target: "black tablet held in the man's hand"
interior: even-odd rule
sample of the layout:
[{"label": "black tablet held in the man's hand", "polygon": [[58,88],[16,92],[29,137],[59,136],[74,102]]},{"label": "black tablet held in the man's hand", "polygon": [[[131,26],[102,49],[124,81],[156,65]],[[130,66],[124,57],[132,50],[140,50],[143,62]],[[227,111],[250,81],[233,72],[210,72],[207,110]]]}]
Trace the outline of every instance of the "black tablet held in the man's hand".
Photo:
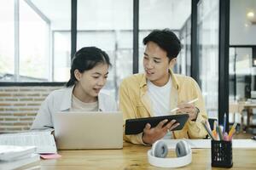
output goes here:
[{"label": "black tablet held in the man's hand", "polygon": [[[125,134],[130,135],[130,134],[142,133],[143,129],[147,123],[149,123],[151,125],[151,127],[156,127],[159,122],[161,122],[165,119],[168,119],[168,122],[171,122],[173,119],[175,119],[176,122],[179,122],[179,125],[177,127],[175,127],[172,131],[181,130],[181,129],[183,129],[184,124],[188,121],[189,114],[127,119],[125,122]],[[168,122],[166,122],[166,124]]]}]

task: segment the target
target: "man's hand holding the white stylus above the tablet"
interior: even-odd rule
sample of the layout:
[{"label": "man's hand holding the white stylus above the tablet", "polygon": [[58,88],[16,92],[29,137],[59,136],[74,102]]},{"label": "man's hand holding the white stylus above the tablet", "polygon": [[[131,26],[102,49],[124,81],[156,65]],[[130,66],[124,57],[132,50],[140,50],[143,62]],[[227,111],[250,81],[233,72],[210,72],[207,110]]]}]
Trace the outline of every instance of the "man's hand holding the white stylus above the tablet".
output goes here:
[{"label": "man's hand holding the white stylus above the tablet", "polygon": [[195,107],[193,104],[187,104],[187,103],[182,103],[177,105],[179,108],[177,110],[177,113],[188,113],[189,114],[189,120],[195,120],[198,114],[198,109]]}]

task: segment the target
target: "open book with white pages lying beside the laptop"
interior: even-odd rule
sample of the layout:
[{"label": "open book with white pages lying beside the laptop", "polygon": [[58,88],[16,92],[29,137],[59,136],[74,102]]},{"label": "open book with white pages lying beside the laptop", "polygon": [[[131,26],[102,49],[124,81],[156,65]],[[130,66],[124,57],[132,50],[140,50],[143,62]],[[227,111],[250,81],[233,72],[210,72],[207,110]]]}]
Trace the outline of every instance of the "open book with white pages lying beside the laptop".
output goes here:
[{"label": "open book with white pages lying beside the laptop", "polygon": [[54,136],[49,132],[1,134],[0,144],[36,146],[36,153],[56,153]]}]

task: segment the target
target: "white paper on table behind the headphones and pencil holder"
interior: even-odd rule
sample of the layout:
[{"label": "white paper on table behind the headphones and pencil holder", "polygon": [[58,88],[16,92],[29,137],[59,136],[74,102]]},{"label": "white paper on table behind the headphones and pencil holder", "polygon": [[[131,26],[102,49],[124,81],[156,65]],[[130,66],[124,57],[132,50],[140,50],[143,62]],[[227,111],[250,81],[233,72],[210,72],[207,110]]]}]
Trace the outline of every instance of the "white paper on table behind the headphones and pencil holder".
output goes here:
[{"label": "white paper on table behind the headphones and pencil holder", "polygon": [[[168,149],[175,149],[176,144],[181,139],[163,139]],[[211,139],[183,139],[191,148],[211,148]],[[252,139],[233,139],[232,148],[254,148],[256,149],[256,141]]]}]

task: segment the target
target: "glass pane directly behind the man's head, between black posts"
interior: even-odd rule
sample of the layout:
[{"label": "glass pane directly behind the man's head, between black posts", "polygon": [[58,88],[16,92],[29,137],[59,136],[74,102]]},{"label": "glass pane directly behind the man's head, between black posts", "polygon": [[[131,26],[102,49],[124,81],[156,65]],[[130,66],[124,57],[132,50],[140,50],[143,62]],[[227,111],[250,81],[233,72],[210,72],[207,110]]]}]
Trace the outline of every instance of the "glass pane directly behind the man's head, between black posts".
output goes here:
[{"label": "glass pane directly behind the man's head, between black posts", "polygon": [[[186,30],[186,28],[191,25],[191,20],[189,20],[191,1],[141,0],[139,1],[139,11],[139,72],[143,72],[143,53],[145,48],[143,38],[154,29],[169,28],[183,42],[183,49],[177,56],[177,65],[174,71],[189,75],[189,72],[186,72],[186,65],[190,65],[190,63],[188,63],[189,59],[186,60],[188,56],[186,54],[190,54],[191,51],[190,47],[186,47],[190,46],[187,38],[190,31]],[[185,37],[183,37],[183,33],[185,33]]]}]

